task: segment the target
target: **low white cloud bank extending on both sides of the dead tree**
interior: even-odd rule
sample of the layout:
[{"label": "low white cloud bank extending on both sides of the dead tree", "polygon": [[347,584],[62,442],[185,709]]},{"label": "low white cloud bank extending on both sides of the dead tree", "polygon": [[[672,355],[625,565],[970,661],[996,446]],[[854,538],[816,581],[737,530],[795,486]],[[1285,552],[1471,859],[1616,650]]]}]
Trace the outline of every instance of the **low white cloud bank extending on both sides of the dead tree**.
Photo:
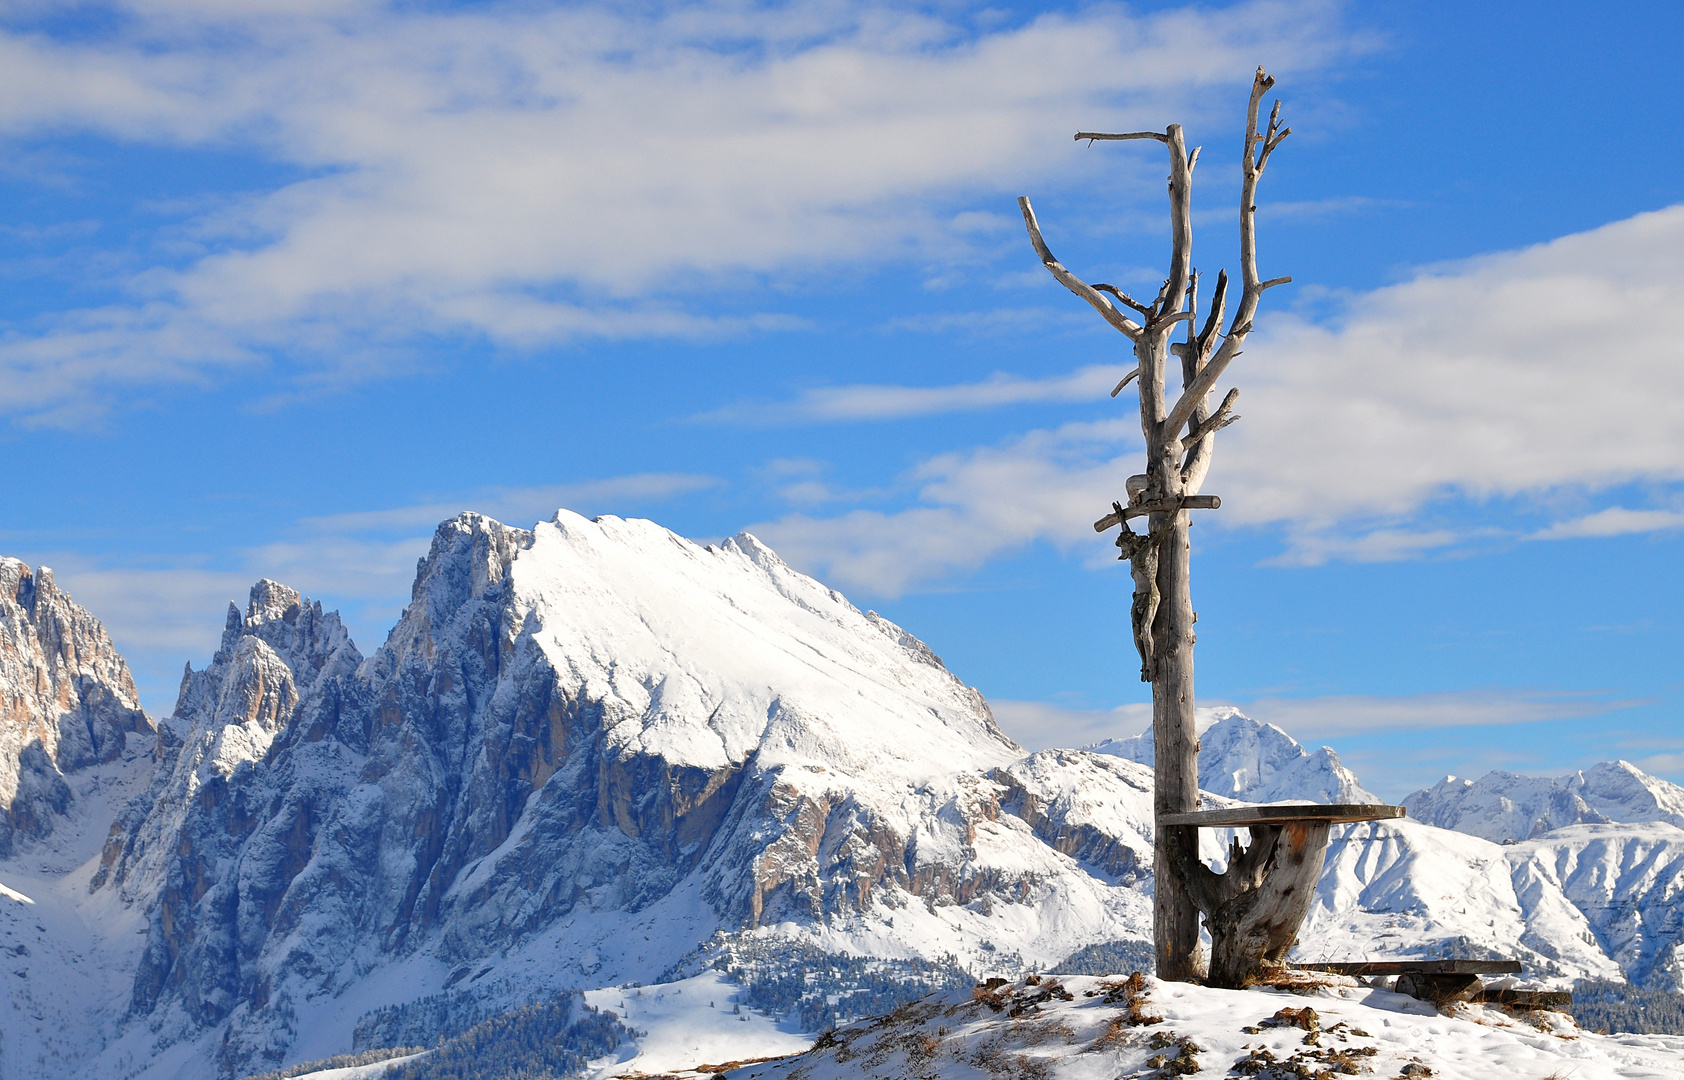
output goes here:
[{"label": "low white cloud bank extending on both sides of the dead tree", "polygon": [[[1273,315],[1229,369],[1243,420],[1218,436],[1204,485],[1223,509],[1196,521],[1280,526],[1283,563],[1376,561],[1500,532],[1479,517],[1482,500],[1548,505],[1558,492],[1676,485],[1684,480],[1681,340],[1684,206],[1423,271],[1351,298],[1334,325]],[[1093,389],[1103,382],[1090,369],[1032,386],[1079,398],[1083,379]],[[859,391],[887,411],[903,401],[957,408],[985,388]],[[1031,399],[1024,386],[1004,389]],[[1133,394],[1118,406],[1116,421],[925,462],[913,473],[923,505],[791,516],[756,531],[802,564],[882,595],[1034,541],[1091,546],[1090,522],[1142,467]],[[1420,517],[1443,499],[1460,500],[1465,526]],[[1534,536],[1679,526],[1684,514],[1671,509],[1610,507]]]}]

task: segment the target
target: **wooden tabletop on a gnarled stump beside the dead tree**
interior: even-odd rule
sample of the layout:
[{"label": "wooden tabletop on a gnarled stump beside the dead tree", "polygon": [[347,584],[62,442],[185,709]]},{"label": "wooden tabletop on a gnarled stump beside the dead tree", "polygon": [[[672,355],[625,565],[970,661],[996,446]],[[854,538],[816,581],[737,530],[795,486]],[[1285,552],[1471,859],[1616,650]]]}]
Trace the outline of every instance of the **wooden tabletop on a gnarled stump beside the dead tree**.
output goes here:
[{"label": "wooden tabletop on a gnarled stump beside the dead tree", "polygon": [[[1310,912],[1322,876],[1327,831],[1335,824],[1403,817],[1384,804],[1285,804],[1162,814],[1175,873],[1211,932],[1212,986],[1239,987],[1265,969],[1287,967],[1287,952]],[[1251,829],[1251,846],[1234,839],[1228,871],[1199,858],[1199,829]]]}]

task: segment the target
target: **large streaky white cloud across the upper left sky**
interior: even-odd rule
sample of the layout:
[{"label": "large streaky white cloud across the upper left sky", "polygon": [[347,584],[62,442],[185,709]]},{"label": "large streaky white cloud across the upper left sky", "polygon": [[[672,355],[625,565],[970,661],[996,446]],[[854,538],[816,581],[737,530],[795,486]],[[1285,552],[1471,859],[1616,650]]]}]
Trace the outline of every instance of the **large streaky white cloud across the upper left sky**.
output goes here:
[{"label": "large streaky white cloud across the upper left sky", "polygon": [[1315,2],[972,32],[866,3],[153,0],[104,25],[0,32],[0,133],[210,147],[306,175],[192,219],[185,266],[115,281],[133,303],[0,340],[13,413],[273,354],[365,377],[424,334],[525,347],[766,325],[685,297],[960,251],[994,224],[965,212],[978,190],[1098,167],[1054,153],[1079,123],[1159,125],[1258,56],[1290,74],[1352,47]]}]

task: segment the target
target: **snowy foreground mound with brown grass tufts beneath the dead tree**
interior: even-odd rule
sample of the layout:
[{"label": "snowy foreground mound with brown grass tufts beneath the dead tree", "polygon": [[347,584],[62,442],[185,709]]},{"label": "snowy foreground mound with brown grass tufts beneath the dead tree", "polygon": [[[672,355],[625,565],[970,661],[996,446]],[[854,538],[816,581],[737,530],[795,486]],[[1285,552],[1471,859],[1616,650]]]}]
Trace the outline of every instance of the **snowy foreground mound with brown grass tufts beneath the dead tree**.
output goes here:
[{"label": "snowy foreground mound with brown grass tufts beneath the dead tree", "polygon": [[1111,1080],[1194,1072],[1187,1065],[1282,1080],[1677,1080],[1684,1036],[1591,1035],[1559,1013],[1524,1018],[1490,1006],[1457,1006],[1443,1016],[1356,979],[1330,977],[1300,992],[1145,979],[1135,996],[1118,979],[1069,976],[928,999],[727,1077]]}]

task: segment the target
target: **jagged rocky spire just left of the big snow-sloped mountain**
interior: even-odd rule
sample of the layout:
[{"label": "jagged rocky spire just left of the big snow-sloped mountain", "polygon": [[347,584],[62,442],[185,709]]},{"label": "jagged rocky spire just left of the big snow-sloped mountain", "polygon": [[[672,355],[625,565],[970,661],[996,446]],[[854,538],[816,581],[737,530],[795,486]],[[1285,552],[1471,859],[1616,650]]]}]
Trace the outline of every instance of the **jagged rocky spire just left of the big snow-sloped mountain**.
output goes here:
[{"label": "jagged rocky spire just left of the big snow-sloped mountain", "polygon": [[[338,615],[259,581],[244,615],[229,605],[210,666],[182,676],[152,789],[113,827],[93,880],[150,906],[135,1013],[168,996],[207,1024],[266,996],[254,962],[268,935],[295,928],[288,890],[325,799],[355,768],[365,709],[345,704],[360,660]],[[300,750],[276,755],[278,741]]]}]

